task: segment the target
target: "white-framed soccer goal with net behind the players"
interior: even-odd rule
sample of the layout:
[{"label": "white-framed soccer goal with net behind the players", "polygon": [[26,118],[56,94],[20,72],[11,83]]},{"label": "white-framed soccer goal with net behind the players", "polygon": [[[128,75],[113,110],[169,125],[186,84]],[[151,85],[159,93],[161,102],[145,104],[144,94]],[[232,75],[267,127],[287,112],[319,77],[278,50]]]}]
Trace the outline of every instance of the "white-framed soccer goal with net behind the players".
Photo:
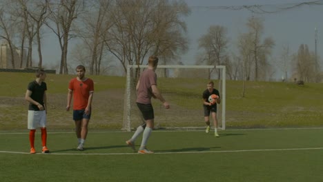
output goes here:
[{"label": "white-framed soccer goal with net behind the players", "polygon": [[[136,105],[137,80],[148,65],[128,65],[124,99],[123,130],[135,130],[144,123]],[[226,129],[226,67],[224,65],[158,65],[157,87],[170,109],[152,98],[155,129],[193,130],[205,128],[202,92],[212,80],[219,90],[221,103],[217,105],[218,128]],[[213,123],[210,118],[211,123]],[[212,124],[213,125],[213,124]]]}]

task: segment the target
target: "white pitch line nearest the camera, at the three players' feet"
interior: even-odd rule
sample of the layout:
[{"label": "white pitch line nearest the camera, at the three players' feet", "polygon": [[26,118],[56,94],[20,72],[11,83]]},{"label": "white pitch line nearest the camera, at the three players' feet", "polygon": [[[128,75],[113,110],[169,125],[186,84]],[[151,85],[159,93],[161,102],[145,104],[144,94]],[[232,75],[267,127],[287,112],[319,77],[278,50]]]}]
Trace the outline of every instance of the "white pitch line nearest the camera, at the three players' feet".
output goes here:
[{"label": "white pitch line nearest the camera, at the three players' feet", "polygon": [[[252,149],[252,150],[217,150],[200,152],[155,152],[155,154],[205,154],[205,153],[232,153],[232,152],[275,152],[275,151],[297,151],[297,150],[323,150],[323,148],[278,148],[278,149]],[[28,152],[0,151],[7,154],[29,154]],[[37,153],[41,154],[41,153]],[[49,153],[48,155],[134,155],[138,153]]]}]

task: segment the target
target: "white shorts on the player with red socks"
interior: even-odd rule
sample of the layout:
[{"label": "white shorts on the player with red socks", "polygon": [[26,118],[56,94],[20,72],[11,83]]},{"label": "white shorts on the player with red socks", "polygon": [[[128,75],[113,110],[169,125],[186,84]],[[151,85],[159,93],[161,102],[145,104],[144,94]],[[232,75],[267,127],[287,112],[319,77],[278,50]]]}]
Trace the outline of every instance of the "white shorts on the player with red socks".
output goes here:
[{"label": "white shorts on the player with red socks", "polygon": [[46,110],[28,110],[28,130],[46,127]]}]

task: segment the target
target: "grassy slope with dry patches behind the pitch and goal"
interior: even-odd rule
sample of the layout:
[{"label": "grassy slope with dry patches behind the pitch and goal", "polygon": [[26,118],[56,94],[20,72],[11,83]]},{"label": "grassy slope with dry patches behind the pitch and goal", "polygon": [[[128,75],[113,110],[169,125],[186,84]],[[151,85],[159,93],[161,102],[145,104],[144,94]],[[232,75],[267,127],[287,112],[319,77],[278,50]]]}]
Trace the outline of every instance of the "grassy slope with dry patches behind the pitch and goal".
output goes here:
[{"label": "grassy slope with dry patches behind the pitch and goal", "polygon": [[[48,128],[73,130],[71,112],[66,112],[68,81],[75,75],[48,74]],[[120,130],[124,117],[124,77],[90,76],[95,81],[91,130]],[[35,79],[31,73],[0,72],[0,130],[26,130],[28,103],[26,87]],[[156,122],[161,128],[203,126],[202,92],[206,79],[163,79],[160,90],[170,103],[161,110],[156,101]],[[217,81],[215,87],[217,88]],[[300,128],[321,127],[323,84],[226,81],[227,128]],[[133,102],[134,103],[134,102]],[[136,108],[136,106],[134,106]],[[134,123],[133,128],[137,127]]]}]

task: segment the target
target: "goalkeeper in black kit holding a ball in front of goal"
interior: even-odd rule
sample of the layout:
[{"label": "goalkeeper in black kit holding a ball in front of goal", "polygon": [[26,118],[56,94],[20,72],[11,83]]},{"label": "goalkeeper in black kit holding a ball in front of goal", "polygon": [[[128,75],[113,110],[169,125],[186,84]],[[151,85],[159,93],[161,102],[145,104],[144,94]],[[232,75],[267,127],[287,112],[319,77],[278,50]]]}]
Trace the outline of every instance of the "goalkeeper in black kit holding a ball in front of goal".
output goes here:
[{"label": "goalkeeper in black kit holding a ball in front of goal", "polygon": [[[203,108],[204,108],[204,121],[206,123],[206,130],[205,132],[210,132],[210,114],[212,115],[213,125],[214,125],[214,136],[219,137],[217,134],[217,104],[221,103],[221,99],[219,97],[219,90],[214,88],[213,81],[209,81],[206,85],[207,89],[204,90],[202,94],[203,98]],[[215,98],[215,103],[211,103],[208,98],[215,94],[217,97]]]}]

